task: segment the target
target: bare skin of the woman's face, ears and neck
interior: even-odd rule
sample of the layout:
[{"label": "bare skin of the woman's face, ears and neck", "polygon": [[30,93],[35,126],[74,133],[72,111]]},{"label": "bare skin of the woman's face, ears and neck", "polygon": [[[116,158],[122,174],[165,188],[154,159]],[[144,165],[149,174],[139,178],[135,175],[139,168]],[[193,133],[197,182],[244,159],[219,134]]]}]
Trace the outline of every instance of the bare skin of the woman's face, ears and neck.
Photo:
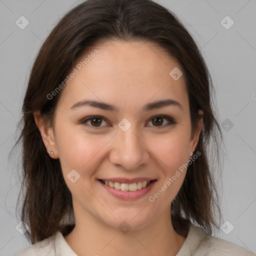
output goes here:
[{"label": "bare skin of the woman's face, ears and neck", "polygon": [[[64,238],[79,256],[176,255],[186,237],[172,227],[170,203],[186,170],[154,202],[148,197],[187,163],[197,144],[202,118],[192,136],[185,77],[174,80],[169,75],[174,67],[182,68],[157,45],[112,40],[96,48],[99,52],[95,57],[61,90],[53,127],[42,121],[38,111],[34,112],[45,147],[54,152],[49,156],[60,159],[72,194],[76,225]],[[120,109],[70,109],[85,99]],[[145,104],[163,99],[178,101],[182,109],[168,105],[142,110]],[[167,115],[176,123],[163,118],[159,127],[152,121],[157,114]],[[199,114],[202,116],[201,110]],[[91,115],[105,118],[99,129],[91,128],[97,127],[93,121],[80,123]],[[123,118],[131,123],[127,131],[118,127]],[[74,183],[67,177],[72,169],[80,175]],[[125,200],[102,188],[97,179],[105,177],[149,177],[157,181],[148,194]],[[130,226],[126,233],[118,228],[123,221]]]}]

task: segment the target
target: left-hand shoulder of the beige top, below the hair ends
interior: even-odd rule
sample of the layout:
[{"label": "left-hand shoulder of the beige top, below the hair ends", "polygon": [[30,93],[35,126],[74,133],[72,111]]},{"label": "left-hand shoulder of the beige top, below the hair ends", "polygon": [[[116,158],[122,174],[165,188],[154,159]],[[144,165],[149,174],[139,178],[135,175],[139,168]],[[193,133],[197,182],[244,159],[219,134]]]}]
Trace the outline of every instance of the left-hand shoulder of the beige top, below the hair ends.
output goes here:
[{"label": "left-hand shoulder of the beige top, below the hair ends", "polygon": [[20,250],[13,256],[55,256],[54,239],[55,235],[52,235],[40,242]]}]

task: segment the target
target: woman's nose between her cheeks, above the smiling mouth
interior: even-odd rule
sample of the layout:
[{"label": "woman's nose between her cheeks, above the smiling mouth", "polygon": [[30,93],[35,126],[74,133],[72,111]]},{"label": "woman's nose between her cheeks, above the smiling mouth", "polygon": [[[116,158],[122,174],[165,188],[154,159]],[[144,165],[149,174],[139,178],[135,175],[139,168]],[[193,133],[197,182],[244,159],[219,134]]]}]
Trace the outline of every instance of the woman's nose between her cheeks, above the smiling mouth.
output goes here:
[{"label": "woman's nose between her cheeks, above the smiling mouth", "polygon": [[149,162],[150,150],[133,125],[126,131],[118,128],[112,143],[109,160],[119,168],[136,170]]}]

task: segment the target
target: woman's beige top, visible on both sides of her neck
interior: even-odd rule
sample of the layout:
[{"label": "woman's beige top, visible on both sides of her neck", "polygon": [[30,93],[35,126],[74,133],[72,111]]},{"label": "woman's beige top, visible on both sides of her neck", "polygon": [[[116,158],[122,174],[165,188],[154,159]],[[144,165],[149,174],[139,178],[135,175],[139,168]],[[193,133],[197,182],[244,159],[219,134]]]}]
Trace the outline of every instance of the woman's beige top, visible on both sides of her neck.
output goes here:
[{"label": "woman's beige top, visible on both sides of her neck", "polygon": [[[60,231],[28,246],[13,256],[78,256]],[[256,256],[237,244],[207,235],[198,226],[190,225],[186,239],[176,256]]]}]

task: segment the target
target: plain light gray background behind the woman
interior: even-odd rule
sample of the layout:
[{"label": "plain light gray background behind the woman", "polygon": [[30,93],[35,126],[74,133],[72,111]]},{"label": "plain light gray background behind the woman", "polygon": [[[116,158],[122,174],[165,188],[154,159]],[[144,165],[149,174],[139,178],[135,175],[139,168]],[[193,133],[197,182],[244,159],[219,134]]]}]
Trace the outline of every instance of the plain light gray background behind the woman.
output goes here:
[{"label": "plain light gray background behind the woman", "polygon": [[[20,183],[17,167],[7,164],[20,118],[22,98],[41,42],[74,0],[0,0],[0,255],[13,255],[29,243],[15,226]],[[216,87],[220,121],[228,156],[223,169],[221,209],[234,229],[218,237],[256,252],[256,1],[157,0],[176,13],[202,50]],[[20,29],[15,21],[25,16]],[[220,21],[230,16],[234,24]],[[224,21],[229,22],[229,21]],[[254,98],[254,99],[253,99]],[[230,228],[230,224],[227,226]]]}]

